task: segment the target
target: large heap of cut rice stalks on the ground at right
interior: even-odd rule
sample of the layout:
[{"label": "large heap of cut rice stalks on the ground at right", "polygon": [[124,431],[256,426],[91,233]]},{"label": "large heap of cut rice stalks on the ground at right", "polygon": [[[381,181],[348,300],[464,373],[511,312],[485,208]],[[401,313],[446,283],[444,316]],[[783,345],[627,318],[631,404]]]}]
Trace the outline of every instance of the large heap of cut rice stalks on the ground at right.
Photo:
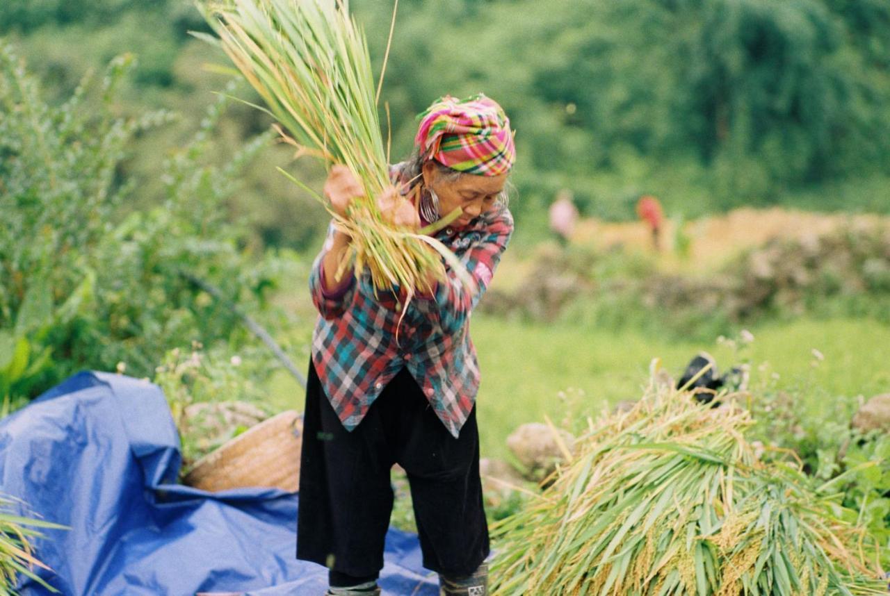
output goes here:
[{"label": "large heap of cut rice stalks on the ground at right", "polygon": [[494,594],[886,594],[867,536],[752,424],[651,386],[587,434],[539,498],[493,528]]}]

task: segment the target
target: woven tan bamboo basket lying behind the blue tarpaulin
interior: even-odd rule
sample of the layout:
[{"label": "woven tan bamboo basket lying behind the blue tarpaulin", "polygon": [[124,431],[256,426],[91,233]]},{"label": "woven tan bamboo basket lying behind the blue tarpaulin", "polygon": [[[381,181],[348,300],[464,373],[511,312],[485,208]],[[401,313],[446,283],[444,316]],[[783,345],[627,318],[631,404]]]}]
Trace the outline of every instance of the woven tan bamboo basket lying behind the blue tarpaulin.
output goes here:
[{"label": "woven tan bamboo basket lying behind the blue tarpaulin", "polygon": [[202,490],[300,487],[303,417],[287,410],[256,424],[195,463],[183,480]]}]

